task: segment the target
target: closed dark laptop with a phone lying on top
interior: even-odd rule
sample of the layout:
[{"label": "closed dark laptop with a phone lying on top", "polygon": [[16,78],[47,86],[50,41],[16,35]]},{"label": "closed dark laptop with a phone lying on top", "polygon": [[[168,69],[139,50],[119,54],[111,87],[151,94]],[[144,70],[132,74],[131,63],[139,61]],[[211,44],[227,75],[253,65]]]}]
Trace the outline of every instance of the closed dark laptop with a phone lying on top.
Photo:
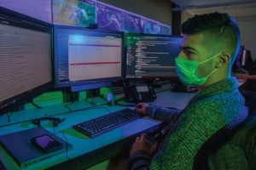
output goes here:
[{"label": "closed dark laptop with a phone lying on top", "polygon": [[[49,135],[52,139],[63,144],[63,147],[53,152],[45,153],[32,144],[30,139],[44,134]],[[55,136],[55,134],[50,133],[42,127],[34,127],[17,133],[2,135],[0,136],[0,144],[3,145],[3,148],[7,150],[9,155],[14,158],[20,167],[29,166],[72,149],[72,144],[68,144],[67,141]]]}]

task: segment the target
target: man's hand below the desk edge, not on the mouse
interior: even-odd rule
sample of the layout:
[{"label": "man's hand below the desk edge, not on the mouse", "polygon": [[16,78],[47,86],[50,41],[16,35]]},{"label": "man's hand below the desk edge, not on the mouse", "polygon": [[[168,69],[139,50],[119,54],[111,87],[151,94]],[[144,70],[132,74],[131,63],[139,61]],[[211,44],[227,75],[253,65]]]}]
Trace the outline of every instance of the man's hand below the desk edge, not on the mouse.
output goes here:
[{"label": "man's hand below the desk edge, not on the mouse", "polygon": [[158,144],[155,143],[153,147],[151,147],[149,144],[146,143],[145,138],[147,134],[143,133],[141,136],[138,136],[135,140],[135,142],[131,146],[130,150],[130,156],[137,150],[143,150],[145,151],[149,156],[152,156],[158,148]]}]

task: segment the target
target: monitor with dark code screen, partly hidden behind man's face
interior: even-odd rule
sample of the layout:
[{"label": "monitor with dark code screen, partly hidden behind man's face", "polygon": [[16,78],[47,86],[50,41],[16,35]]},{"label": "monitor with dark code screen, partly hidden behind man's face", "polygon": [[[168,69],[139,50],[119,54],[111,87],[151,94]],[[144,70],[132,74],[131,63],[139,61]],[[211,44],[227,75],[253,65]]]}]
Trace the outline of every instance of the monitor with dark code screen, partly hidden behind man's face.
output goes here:
[{"label": "monitor with dark code screen, partly hidden behind man's face", "polygon": [[125,34],[125,77],[177,77],[175,58],[180,52],[183,37],[150,34]]}]

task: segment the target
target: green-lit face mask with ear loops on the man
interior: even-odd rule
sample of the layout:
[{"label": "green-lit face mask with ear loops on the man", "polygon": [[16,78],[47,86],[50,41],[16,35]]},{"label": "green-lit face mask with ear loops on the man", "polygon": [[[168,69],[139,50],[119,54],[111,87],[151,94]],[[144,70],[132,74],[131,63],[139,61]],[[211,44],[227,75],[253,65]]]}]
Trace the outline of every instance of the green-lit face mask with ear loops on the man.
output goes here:
[{"label": "green-lit face mask with ear loops on the man", "polygon": [[[221,54],[221,53],[219,53]],[[195,86],[201,86],[205,82],[207,82],[207,78],[212,75],[214,71],[217,69],[214,69],[210,74],[208,74],[206,77],[198,77],[197,75],[197,70],[198,70],[198,65],[201,65],[203,63],[206,63],[207,61],[214,59],[215,57],[218,57],[218,55],[214,55],[210,59],[207,59],[202,62],[198,61],[193,61],[189,59],[175,59],[175,64],[176,64],[176,71],[177,71],[177,76],[180,78],[180,80],[185,84],[185,85],[195,85]]]}]

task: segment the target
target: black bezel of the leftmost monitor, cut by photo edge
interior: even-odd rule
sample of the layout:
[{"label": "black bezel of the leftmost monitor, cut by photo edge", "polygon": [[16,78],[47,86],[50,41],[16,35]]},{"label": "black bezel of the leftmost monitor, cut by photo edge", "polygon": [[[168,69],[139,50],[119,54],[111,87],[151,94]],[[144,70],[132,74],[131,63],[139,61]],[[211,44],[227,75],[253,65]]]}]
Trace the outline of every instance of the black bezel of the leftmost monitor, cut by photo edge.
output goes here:
[{"label": "black bezel of the leftmost monitor, cut by photo edge", "polygon": [[[27,16],[26,14],[20,14],[8,8],[0,7],[0,13],[4,15],[8,15],[17,20],[24,20],[25,22],[32,23],[36,26],[43,26],[49,31],[50,35],[50,48],[51,48],[51,73],[53,73],[53,26],[48,22],[44,22],[43,20],[38,20],[32,18],[31,16]],[[33,30],[31,28],[31,30]],[[9,99],[4,99],[0,101],[0,116],[6,114],[9,111],[15,111],[19,105],[24,105],[28,102],[32,102],[32,99],[37,97],[40,94],[44,94],[49,88],[53,88],[53,74],[51,74],[51,81],[41,84],[38,87],[27,90],[24,93],[17,94]]]}]

